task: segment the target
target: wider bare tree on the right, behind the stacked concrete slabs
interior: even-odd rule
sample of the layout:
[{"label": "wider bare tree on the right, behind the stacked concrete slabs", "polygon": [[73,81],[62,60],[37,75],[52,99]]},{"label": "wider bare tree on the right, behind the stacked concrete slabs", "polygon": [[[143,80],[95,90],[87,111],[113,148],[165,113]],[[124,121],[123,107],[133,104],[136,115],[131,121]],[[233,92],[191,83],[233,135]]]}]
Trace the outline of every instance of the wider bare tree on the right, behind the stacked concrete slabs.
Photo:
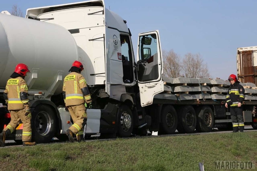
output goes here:
[{"label": "wider bare tree on the right, behind the stacked concrete slabs", "polygon": [[201,55],[187,53],[183,58],[182,73],[188,78],[210,77],[207,63],[204,63]]}]

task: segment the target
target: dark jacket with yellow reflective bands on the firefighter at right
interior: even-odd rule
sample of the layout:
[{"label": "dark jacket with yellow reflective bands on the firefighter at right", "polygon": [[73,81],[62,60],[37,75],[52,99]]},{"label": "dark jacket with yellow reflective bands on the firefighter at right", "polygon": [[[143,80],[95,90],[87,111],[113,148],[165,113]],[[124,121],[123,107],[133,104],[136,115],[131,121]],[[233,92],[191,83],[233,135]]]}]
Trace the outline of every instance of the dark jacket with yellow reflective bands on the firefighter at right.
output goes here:
[{"label": "dark jacket with yellow reflective bands on the firefighter at right", "polygon": [[233,85],[231,84],[226,96],[226,102],[230,105],[230,107],[237,107],[237,104],[243,103],[245,98],[245,90],[239,82],[235,82]]}]

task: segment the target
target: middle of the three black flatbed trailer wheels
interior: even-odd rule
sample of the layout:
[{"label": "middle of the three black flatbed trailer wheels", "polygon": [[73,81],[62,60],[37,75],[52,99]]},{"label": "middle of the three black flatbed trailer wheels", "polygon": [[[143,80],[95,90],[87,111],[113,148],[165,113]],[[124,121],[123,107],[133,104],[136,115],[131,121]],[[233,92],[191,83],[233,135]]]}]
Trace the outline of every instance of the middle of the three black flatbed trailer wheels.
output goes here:
[{"label": "middle of the three black flatbed trailer wheels", "polygon": [[177,130],[179,133],[192,133],[196,127],[195,109],[191,105],[186,105],[179,110],[179,121]]}]

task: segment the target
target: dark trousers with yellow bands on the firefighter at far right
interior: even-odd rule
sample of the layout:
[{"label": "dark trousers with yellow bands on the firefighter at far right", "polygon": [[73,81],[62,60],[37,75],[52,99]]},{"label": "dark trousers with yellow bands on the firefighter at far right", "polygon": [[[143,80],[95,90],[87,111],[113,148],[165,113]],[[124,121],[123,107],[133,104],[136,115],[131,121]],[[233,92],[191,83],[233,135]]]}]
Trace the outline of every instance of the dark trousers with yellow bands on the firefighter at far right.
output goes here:
[{"label": "dark trousers with yellow bands on the firefighter at far right", "polygon": [[233,125],[233,132],[241,132],[244,130],[244,118],[242,107],[230,107],[230,116]]}]

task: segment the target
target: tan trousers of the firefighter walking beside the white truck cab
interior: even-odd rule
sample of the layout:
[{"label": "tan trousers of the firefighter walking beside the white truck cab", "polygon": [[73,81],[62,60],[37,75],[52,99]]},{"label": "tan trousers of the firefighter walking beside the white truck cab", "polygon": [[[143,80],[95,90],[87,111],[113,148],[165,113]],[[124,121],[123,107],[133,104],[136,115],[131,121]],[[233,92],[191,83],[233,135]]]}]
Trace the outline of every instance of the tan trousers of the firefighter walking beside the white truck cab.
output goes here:
[{"label": "tan trousers of the firefighter walking beside the white truck cab", "polygon": [[73,125],[69,128],[75,135],[83,135],[83,127],[87,124],[87,112],[84,104],[68,106],[68,110],[73,120]]}]

